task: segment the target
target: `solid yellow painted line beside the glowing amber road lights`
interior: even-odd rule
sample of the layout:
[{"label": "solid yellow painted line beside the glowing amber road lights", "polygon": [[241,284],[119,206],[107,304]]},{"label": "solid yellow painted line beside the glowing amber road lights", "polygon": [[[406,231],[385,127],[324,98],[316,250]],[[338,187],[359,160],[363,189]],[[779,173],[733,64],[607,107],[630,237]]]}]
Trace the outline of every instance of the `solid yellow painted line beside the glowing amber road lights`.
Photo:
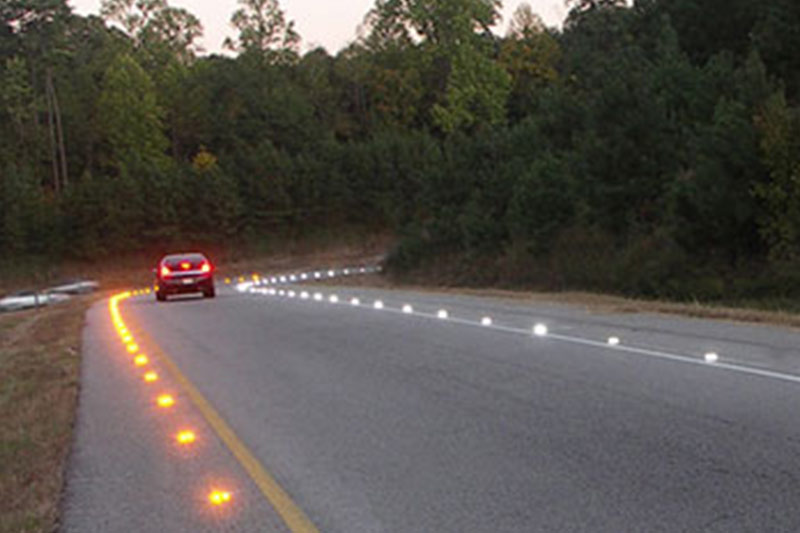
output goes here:
[{"label": "solid yellow painted line beside the glowing amber road lights", "polygon": [[280,515],[286,526],[292,533],[319,533],[317,527],[311,522],[300,507],[292,500],[291,496],[281,487],[275,478],[267,472],[264,466],[256,459],[253,453],[247,448],[242,440],[236,435],[233,429],[225,422],[225,419],[217,410],[206,400],[205,396],[197,390],[197,387],[181,372],[175,361],[167,355],[146,333],[140,334],[146,337],[147,342],[143,343],[154,354],[161,363],[169,370],[175,381],[183,387],[189,399],[194,403],[203,418],[214,429],[216,434],[233,453],[236,460],[245,469],[250,478],[259,488],[261,493]]}]

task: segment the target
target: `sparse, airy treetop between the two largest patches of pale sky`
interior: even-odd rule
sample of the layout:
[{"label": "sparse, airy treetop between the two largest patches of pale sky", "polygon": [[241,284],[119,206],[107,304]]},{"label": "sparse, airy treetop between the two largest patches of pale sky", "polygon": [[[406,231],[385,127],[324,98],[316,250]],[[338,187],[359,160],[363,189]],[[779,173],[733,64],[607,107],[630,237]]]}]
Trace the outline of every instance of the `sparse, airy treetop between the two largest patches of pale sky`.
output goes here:
[{"label": "sparse, airy treetop between the two largest patches of pale sky", "polygon": [[239,5],[242,7],[231,17],[239,37],[226,39],[225,47],[261,57],[267,63],[294,63],[300,36],[294,30],[294,21],[286,22],[278,0],[239,0]]}]

